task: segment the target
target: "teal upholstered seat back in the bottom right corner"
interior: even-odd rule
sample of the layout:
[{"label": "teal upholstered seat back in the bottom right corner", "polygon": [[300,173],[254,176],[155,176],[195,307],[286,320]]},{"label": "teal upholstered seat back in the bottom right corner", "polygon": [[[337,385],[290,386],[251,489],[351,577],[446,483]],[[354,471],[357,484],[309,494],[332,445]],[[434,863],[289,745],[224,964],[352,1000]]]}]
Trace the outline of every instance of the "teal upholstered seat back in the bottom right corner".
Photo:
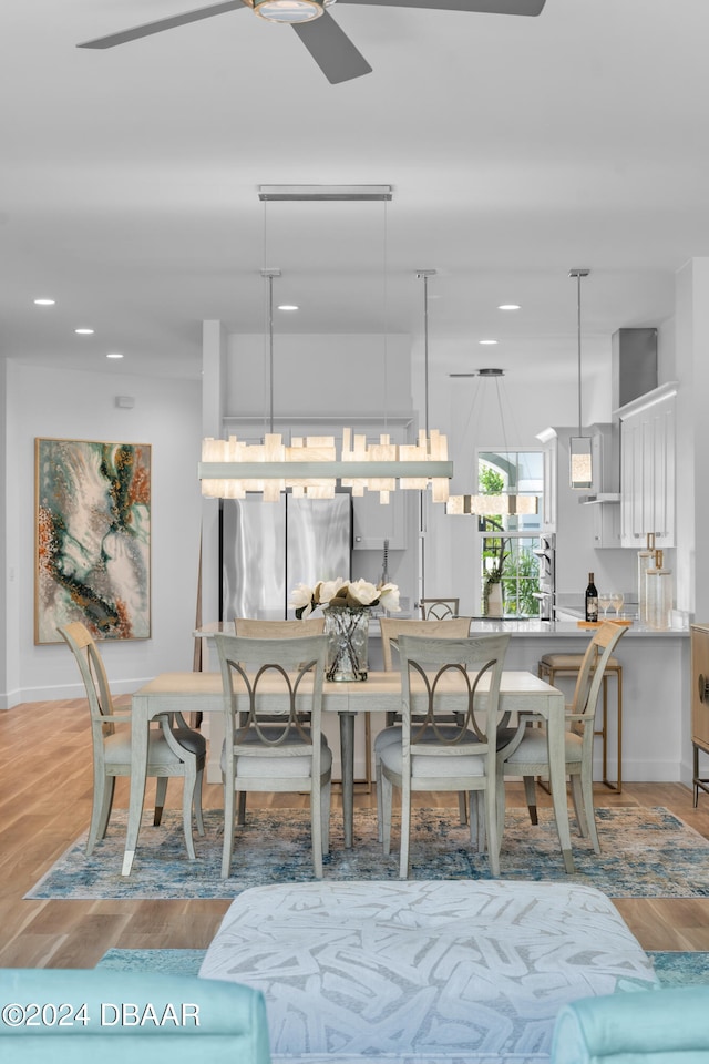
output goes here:
[{"label": "teal upholstered seat back in the bottom right corner", "polygon": [[709,985],[583,998],[561,1010],[552,1064],[707,1064]]}]

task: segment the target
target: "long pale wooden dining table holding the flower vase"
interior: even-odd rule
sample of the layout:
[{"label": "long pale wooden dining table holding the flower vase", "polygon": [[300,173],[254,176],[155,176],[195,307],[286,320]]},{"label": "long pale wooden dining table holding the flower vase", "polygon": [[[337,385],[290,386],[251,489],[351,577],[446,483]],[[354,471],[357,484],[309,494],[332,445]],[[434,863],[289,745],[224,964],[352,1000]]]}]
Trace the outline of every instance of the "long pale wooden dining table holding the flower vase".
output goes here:
[{"label": "long pale wooden dining table holding the flower vase", "polygon": [[[481,678],[477,697],[484,697],[489,676]],[[237,708],[238,705],[237,695]],[[248,709],[248,696],[244,692],[244,709]],[[276,709],[281,689],[274,689],[273,705]],[[450,693],[448,702],[441,702],[441,710],[455,710],[460,694]],[[366,681],[327,682],[323,685],[322,712],[337,713],[340,725],[342,819],[346,848],[352,846],[354,814],[354,719],[362,713],[398,713],[401,710],[401,674],[370,672]],[[524,715],[530,723],[543,720],[548,743],[549,790],[556,820],[556,830],[567,872],[575,870],[571,846],[568,806],[566,798],[565,763],[565,708],[564,695],[556,688],[526,671],[507,671],[502,674],[500,710],[503,714]],[[215,672],[161,673],[144,684],[132,697],[131,728],[131,782],[129,820],[123,856],[122,874],[130,876],[137,848],[143,816],[147,778],[147,745],[150,722],[162,713],[225,713],[225,696],[222,674]]]}]

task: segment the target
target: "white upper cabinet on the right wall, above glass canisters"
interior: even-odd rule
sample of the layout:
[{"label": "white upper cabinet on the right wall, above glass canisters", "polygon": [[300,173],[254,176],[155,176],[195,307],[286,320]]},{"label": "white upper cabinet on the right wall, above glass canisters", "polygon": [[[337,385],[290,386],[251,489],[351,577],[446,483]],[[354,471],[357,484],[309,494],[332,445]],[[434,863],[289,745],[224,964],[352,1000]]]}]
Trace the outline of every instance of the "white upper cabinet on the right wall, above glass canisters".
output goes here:
[{"label": "white upper cabinet on the right wall, above glass canisters", "polygon": [[621,545],[675,546],[675,411],[677,386],[662,385],[618,411]]}]

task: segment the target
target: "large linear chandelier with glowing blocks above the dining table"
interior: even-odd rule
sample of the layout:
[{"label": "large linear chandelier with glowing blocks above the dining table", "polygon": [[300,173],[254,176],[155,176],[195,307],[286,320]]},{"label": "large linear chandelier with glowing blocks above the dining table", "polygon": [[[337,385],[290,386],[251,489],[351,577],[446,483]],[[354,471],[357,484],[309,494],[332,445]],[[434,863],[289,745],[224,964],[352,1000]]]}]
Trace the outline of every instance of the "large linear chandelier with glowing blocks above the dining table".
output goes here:
[{"label": "large linear chandelier with glowing blocks above the dining table", "polygon": [[[282,186],[289,200],[362,200],[391,198],[391,186],[341,186],[341,192],[322,186]],[[278,186],[261,186],[264,201],[279,198]],[[353,495],[378,491],[379,501],[388,503],[397,488],[424,491],[431,489],[434,502],[445,502],[453,463],[448,458],[446,437],[435,429],[419,432],[415,443],[392,443],[382,433],[378,443],[368,443],[363,434],[351,429],[342,433],[338,458],[335,437],[294,437],[290,444],[274,432],[274,278],[279,269],[263,269],[268,282],[270,431],[263,443],[207,438],[202,444],[198,475],[202,494],[208,498],[243,499],[246,492],[261,492],[265,501],[275,501],[282,491],[309,499],[331,499],[338,483]],[[428,411],[427,411],[428,418]]]}]

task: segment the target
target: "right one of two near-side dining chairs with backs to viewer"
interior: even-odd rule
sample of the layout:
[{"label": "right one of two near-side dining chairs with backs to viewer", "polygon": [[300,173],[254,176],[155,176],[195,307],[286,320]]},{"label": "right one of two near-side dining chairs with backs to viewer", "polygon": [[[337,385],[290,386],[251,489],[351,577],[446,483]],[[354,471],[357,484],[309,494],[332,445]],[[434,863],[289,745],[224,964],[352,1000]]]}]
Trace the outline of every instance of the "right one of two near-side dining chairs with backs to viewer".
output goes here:
[{"label": "right one of two near-side dining chairs with backs to viewer", "polygon": [[[399,637],[401,739],[381,751],[383,849],[391,849],[393,788],[401,791],[399,877],[409,877],[411,796],[417,791],[465,791],[471,843],[485,845],[493,876],[500,874],[497,826],[497,724],[500,683],[510,635],[474,638]],[[485,677],[489,686],[479,690]],[[461,723],[442,724],[451,695],[463,702]],[[477,697],[476,697],[477,696]],[[477,703],[477,704],[476,704]],[[456,714],[459,710],[455,706]]]}]

